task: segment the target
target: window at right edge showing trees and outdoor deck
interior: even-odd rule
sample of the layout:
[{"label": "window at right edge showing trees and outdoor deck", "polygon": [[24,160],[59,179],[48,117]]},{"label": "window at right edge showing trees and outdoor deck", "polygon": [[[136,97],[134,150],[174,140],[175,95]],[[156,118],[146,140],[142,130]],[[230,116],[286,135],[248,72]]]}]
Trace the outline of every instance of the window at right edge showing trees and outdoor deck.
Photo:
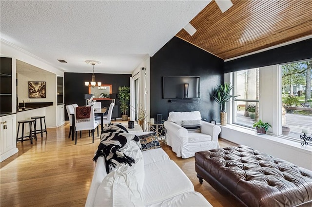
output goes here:
[{"label": "window at right edge showing trees and outdoor deck", "polygon": [[300,139],[302,133],[312,134],[312,60],[280,65],[281,72],[281,134]]}]

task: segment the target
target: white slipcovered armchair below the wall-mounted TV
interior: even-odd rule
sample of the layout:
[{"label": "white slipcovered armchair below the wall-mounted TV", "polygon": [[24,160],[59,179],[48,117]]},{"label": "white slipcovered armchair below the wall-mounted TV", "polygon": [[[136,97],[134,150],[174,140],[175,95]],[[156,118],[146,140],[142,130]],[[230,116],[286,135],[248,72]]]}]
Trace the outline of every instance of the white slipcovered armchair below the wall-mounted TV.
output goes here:
[{"label": "white slipcovered armchair below the wall-mounted TV", "polygon": [[[200,132],[181,126],[182,122],[197,120]],[[168,121],[164,122],[167,144],[172,147],[176,156],[188,158],[196,152],[220,148],[218,136],[221,128],[215,124],[201,121],[199,111],[170,112]],[[190,127],[192,128],[192,127]]]}]

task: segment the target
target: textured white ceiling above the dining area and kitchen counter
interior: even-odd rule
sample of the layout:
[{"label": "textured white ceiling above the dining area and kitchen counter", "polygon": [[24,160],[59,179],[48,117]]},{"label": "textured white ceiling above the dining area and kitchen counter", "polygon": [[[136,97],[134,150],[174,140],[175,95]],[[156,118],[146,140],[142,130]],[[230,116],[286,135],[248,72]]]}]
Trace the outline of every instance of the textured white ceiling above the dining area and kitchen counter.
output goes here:
[{"label": "textured white ceiling above the dining area and kitchen counter", "polygon": [[1,0],[0,35],[65,72],[131,73],[210,1]]}]

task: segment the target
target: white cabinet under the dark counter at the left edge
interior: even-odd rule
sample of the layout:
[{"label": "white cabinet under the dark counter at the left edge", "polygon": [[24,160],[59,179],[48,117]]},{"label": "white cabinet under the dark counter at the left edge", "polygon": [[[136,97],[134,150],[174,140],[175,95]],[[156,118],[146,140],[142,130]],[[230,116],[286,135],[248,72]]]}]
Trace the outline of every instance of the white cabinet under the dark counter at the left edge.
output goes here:
[{"label": "white cabinet under the dark counter at the left edge", "polygon": [[0,161],[14,155],[19,150],[16,147],[16,115],[0,117]]}]

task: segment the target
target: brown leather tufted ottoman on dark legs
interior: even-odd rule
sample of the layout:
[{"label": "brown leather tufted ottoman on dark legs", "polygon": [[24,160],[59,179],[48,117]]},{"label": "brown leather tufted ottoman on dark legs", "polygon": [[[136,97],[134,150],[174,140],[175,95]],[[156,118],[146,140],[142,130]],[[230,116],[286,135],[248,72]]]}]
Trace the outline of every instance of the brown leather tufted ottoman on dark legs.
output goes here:
[{"label": "brown leather tufted ottoman on dark legs", "polygon": [[312,172],[247,146],[195,153],[199,182],[248,207],[312,207]]}]

